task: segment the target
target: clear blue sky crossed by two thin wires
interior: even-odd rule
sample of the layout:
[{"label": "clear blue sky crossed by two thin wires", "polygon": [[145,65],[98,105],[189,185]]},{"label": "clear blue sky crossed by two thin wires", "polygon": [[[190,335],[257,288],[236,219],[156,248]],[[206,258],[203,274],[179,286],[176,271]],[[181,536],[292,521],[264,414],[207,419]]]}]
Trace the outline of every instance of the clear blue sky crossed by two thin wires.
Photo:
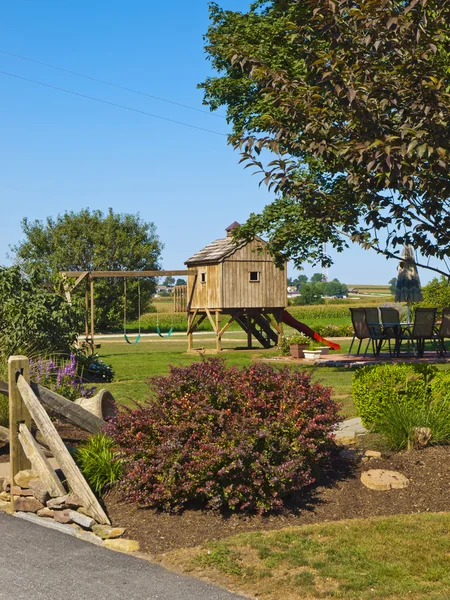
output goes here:
[{"label": "clear blue sky crossed by two thin wires", "polygon": [[[223,0],[246,10],[247,0]],[[2,7],[0,50],[207,111],[196,88],[210,74],[204,0],[15,0]],[[133,94],[0,53],[0,264],[20,221],[81,208],[137,213],[165,244],[162,266],[184,261],[244,222],[272,195],[238,165],[223,118]],[[30,83],[40,81],[185,122],[201,131]],[[397,265],[352,247],[329,277],[386,284]],[[311,275],[320,269],[305,265]],[[296,274],[293,269],[289,275]],[[422,283],[433,275],[420,272]]]}]

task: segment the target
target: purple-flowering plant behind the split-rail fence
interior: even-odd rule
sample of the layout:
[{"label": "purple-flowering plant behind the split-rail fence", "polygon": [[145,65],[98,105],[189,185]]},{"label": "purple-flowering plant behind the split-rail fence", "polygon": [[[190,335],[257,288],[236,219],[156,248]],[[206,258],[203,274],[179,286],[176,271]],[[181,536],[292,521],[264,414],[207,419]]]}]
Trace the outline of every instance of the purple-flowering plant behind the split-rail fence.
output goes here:
[{"label": "purple-flowering plant behind the split-rail fence", "polygon": [[84,385],[82,377],[77,374],[74,354],[71,354],[69,359],[30,359],[30,379],[68,400],[91,398],[97,389]]}]

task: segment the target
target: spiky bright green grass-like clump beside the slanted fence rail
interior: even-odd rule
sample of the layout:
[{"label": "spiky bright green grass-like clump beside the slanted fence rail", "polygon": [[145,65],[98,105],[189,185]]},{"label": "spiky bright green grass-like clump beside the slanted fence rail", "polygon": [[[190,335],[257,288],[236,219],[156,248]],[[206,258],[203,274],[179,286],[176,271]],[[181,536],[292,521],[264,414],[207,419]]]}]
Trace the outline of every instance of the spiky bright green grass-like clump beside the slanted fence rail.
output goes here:
[{"label": "spiky bright green grass-like clump beside the slanted fence rail", "polygon": [[114,441],[102,433],[82,444],[75,452],[75,460],[96,494],[122,476],[122,461],[114,451]]}]

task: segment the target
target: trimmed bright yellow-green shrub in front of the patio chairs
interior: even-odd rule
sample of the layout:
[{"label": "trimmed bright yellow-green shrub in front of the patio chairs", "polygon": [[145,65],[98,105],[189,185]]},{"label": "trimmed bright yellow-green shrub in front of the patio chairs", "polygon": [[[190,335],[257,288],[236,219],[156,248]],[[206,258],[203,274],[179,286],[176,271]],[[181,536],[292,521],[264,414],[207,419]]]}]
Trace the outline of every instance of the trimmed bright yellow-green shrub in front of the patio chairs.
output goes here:
[{"label": "trimmed bright yellow-green shrub in front of the patio chairs", "polygon": [[428,364],[374,365],[358,369],[353,376],[352,395],[365,427],[373,428],[385,411],[401,401],[405,406],[423,404],[437,368]]}]

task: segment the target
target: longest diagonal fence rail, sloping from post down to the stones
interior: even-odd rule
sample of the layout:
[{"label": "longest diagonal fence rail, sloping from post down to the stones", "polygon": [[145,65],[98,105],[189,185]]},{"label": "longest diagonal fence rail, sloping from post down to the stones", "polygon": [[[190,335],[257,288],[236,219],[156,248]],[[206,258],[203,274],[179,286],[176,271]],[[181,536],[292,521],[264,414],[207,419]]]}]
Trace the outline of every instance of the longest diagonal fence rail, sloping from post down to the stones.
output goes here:
[{"label": "longest diagonal fence rail, sloping from post down to the stones", "polygon": [[44,407],[41,405],[28,382],[22,375],[19,375],[17,379],[17,388],[20,391],[20,395],[22,396],[23,402],[30,415],[47,441],[50,450],[53,452],[53,456],[58,461],[74,494],[80,498],[83,502],[83,506],[92,513],[92,516],[96,521],[110,525],[111,523],[108,516],[100,506],[87,481],[75,464],[70,452],[67,450],[64,442],[56,431],[55,426],[51,422],[50,417],[47,415]]}]

